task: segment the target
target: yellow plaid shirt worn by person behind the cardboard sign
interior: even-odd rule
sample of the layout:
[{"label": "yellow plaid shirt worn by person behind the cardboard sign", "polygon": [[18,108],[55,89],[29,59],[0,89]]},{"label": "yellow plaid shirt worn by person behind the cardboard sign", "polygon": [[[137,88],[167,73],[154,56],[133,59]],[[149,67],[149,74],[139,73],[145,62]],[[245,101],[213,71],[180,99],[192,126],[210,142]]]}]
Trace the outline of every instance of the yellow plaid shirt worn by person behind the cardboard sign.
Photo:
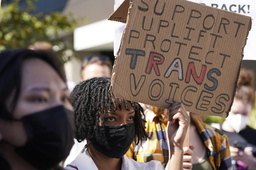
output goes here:
[{"label": "yellow plaid shirt worn by person behind the cardboard sign", "polygon": [[[157,120],[157,116],[150,110],[145,111],[146,115],[146,132],[150,139],[144,138],[139,145],[133,142],[126,153],[126,156],[138,162],[149,162],[158,160],[165,168],[168,159],[168,145],[166,141],[167,124]],[[203,122],[193,119],[200,136],[205,143],[209,155],[209,162],[214,170],[232,169],[231,156],[229,150],[229,141],[225,134],[216,128],[211,127]]]}]

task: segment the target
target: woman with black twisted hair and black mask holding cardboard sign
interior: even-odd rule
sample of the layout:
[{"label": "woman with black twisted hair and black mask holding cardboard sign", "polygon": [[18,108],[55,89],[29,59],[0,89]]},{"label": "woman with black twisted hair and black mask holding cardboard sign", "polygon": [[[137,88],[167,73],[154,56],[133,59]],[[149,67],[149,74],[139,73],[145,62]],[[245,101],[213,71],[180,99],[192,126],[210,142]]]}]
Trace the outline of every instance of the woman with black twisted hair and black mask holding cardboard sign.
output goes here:
[{"label": "woman with black twisted hair and black mask holding cardboard sign", "polygon": [[[76,139],[86,139],[87,145],[65,169],[162,169],[158,161],[141,163],[125,155],[133,141],[138,145],[147,138],[143,109],[136,102],[112,96],[110,83],[110,78],[92,78],[75,86],[72,97]],[[178,121],[179,125],[175,123]],[[183,105],[172,105],[167,121],[170,170],[183,169],[182,146],[189,122]]]}]

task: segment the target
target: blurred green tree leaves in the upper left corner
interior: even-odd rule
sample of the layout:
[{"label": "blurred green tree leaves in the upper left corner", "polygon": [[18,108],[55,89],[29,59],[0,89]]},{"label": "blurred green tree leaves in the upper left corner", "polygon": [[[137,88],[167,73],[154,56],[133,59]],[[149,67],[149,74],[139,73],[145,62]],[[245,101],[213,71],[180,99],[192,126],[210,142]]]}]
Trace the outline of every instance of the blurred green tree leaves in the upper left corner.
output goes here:
[{"label": "blurred green tree leaves in the upper left corner", "polygon": [[[72,32],[82,19],[76,20],[72,14],[63,15],[60,12],[46,15],[42,13],[32,14],[33,9],[35,9],[33,6],[35,0],[27,1],[26,7],[19,7],[19,1],[2,2],[0,52],[5,49],[25,48],[36,41],[47,41],[52,45],[61,44],[62,48],[59,48],[60,50],[57,52],[63,56],[63,53],[69,49],[69,45],[57,40],[59,33]],[[65,60],[69,60],[70,57],[65,57]]]}]

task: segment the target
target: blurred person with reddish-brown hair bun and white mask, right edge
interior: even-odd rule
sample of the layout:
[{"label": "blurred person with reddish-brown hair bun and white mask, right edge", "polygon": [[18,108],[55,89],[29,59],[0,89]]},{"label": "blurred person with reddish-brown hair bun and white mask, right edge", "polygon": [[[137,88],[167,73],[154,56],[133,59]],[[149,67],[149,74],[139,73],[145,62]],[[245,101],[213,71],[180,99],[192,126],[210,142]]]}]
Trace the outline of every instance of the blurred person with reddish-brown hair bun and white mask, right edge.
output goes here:
[{"label": "blurred person with reddish-brown hair bun and white mask, right edge", "polygon": [[256,130],[247,126],[255,105],[254,74],[241,70],[231,111],[220,129],[230,141],[233,169],[256,168]]}]

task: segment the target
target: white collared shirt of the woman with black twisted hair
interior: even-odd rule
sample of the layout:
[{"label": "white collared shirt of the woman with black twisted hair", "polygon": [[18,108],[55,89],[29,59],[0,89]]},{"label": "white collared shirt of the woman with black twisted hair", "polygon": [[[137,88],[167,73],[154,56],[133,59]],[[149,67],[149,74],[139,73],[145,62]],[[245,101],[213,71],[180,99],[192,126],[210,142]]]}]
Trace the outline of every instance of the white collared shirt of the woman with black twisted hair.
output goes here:
[{"label": "white collared shirt of the woman with black twisted hair", "polygon": [[[151,160],[150,162],[137,162],[126,155],[122,156],[122,169],[121,170],[162,170],[162,164],[159,161]],[[97,166],[93,162],[89,152],[83,149],[80,154],[69,165],[71,167],[65,167],[66,170],[98,170]],[[68,166],[68,165],[67,165]]]}]

